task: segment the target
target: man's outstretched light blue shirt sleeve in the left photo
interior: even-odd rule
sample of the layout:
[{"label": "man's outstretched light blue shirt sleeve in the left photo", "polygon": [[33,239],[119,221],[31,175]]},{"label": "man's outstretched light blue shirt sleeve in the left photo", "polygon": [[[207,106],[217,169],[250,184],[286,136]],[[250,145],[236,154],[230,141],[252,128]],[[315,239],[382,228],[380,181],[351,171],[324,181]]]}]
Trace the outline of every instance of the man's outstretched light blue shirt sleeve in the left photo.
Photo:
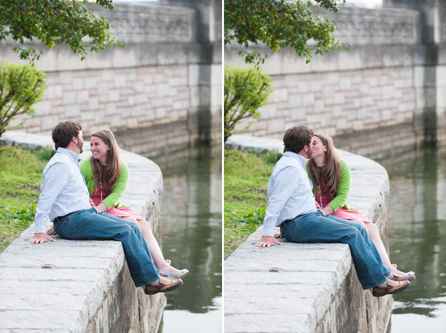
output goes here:
[{"label": "man's outstretched light blue shirt sleeve in the left photo", "polygon": [[69,178],[71,178],[69,168],[61,162],[53,164],[46,171],[45,176],[42,178],[41,193],[36,206],[34,233],[47,232],[47,221],[53,204],[57,196],[68,184]]}]

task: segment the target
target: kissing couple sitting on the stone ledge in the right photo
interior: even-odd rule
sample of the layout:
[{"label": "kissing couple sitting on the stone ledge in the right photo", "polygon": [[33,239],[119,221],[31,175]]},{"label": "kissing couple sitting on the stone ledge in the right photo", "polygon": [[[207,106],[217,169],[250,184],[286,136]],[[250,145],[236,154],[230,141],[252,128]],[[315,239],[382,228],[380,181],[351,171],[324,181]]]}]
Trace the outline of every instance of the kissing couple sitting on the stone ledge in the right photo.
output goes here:
[{"label": "kissing couple sitting on the stone ledge in the right photo", "polygon": [[[307,126],[293,126],[283,143],[284,155],[268,182],[268,207],[257,246],[281,245],[277,238],[347,243],[364,290],[373,288],[373,296],[381,297],[406,289],[414,273],[398,271],[378,228],[346,205],[350,167],[337,155],[332,139],[313,135]],[[280,234],[274,235],[275,227]]]}]

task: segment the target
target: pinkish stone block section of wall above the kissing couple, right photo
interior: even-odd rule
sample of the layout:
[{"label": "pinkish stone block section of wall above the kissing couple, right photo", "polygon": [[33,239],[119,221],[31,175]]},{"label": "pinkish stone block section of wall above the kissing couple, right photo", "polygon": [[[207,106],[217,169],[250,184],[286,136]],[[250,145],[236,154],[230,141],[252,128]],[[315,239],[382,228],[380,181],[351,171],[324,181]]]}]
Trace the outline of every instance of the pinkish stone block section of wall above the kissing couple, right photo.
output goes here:
[{"label": "pinkish stone block section of wall above the kissing couple, right photo", "polygon": [[[446,69],[439,68],[438,72]],[[314,126],[316,131],[333,126],[333,136],[343,135],[345,130],[359,132],[385,124],[402,124],[407,122],[406,112],[414,112],[415,107],[435,101],[446,105],[446,98],[437,98],[426,86],[423,93],[422,89],[415,91],[417,82],[425,82],[424,76],[429,74],[424,67],[395,67],[273,75],[277,90],[269,107],[263,109],[272,110],[276,105],[280,110],[276,119],[271,123],[271,113],[266,112],[263,119],[248,118],[245,124],[267,123],[264,135],[268,137],[283,135],[291,126],[289,117],[299,124]],[[443,90],[446,91],[446,85]],[[328,112],[330,117],[314,116],[321,112]],[[251,127],[248,133],[257,132],[254,128],[257,127]]]}]

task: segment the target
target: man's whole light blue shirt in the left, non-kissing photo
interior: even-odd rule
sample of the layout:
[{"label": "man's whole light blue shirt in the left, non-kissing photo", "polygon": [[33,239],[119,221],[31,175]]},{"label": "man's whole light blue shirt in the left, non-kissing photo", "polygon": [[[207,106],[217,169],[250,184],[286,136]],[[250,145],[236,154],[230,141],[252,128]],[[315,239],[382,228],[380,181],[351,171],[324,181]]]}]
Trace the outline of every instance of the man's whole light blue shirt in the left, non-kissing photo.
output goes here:
[{"label": "man's whole light blue shirt in the left, non-kissing photo", "polygon": [[53,221],[58,216],[91,209],[78,159],[78,154],[59,147],[45,167],[36,207],[35,233],[47,232],[48,218]]}]

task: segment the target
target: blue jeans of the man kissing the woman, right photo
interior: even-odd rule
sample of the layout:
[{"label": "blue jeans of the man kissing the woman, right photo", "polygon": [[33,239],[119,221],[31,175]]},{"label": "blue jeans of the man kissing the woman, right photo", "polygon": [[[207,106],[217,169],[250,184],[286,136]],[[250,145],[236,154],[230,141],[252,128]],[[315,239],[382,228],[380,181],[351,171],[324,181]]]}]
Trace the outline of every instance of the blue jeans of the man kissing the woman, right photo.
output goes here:
[{"label": "blue jeans of the man kissing the woman, right photo", "polygon": [[367,230],[359,223],[333,215],[324,216],[318,211],[291,220],[281,234],[293,242],[349,244],[356,274],[364,290],[386,282],[390,274]]}]

